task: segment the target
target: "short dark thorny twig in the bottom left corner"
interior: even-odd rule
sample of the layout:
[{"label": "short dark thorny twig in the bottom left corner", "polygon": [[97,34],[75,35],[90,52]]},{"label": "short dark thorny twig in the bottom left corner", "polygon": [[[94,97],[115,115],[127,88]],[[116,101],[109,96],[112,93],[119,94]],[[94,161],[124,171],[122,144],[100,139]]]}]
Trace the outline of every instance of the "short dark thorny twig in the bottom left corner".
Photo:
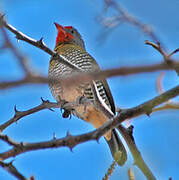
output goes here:
[{"label": "short dark thorny twig in the bottom left corner", "polygon": [[0,161],[0,166],[19,180],[28,180],[15,168],[15,166],[13,166],[12,162],[5,163],[3,161]]}]

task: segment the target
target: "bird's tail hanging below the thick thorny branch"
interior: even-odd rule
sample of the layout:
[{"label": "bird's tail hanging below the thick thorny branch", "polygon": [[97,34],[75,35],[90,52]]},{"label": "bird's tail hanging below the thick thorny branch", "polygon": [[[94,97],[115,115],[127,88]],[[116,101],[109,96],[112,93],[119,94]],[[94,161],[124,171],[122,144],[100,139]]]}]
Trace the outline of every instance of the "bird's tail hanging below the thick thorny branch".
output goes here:
[{"label": "bird's tail hanging below the thick thorny branch", "polygon": [[106,141],[110,147],[114,160],[117,161],[120,166],[124,165],[127,160],[127,152],[115,129],[112,130],[111,139],[106,139]]}]

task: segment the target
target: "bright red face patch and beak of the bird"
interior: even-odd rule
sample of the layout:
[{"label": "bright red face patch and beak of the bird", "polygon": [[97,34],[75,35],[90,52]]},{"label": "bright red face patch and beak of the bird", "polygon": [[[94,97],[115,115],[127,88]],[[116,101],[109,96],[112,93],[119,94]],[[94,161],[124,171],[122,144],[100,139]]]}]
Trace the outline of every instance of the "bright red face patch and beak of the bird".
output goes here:
[{"label": "bright red face patch and beak of the bird", "polygon": [[58,23],[54,23],[56,28],[57,28],[57,38],[56,38],[56,44],[55,44],[55,47],[60,43],[60,44],[63,44],[65,42],[71,42],[73,39],[74,39],[74,36],[71,35],[70,33],[66,32],[65,31],[65,28],[66,29],[71,29],[72,26],[61,26],[59,25]]}]

